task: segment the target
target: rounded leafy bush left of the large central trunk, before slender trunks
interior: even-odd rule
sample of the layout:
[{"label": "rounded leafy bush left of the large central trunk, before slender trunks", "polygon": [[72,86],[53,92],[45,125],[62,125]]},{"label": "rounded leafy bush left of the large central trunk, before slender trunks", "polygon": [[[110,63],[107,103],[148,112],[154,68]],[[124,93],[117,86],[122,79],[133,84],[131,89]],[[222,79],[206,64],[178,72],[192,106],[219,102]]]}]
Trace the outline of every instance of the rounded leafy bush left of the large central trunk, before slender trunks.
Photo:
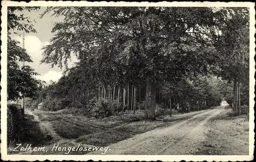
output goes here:
[{"label": "rounded leafy bush left of the large central trunk, before slender trunks", "polygon": [[[95,118],[109,117],[116,115],[121,106],[117,107],[116,101],[106,100],[104,98],[96,100],[95,98],[89,101],[88,108],[90,109],[90,115]],[[121,105],[121,104],[120,104]]]}]

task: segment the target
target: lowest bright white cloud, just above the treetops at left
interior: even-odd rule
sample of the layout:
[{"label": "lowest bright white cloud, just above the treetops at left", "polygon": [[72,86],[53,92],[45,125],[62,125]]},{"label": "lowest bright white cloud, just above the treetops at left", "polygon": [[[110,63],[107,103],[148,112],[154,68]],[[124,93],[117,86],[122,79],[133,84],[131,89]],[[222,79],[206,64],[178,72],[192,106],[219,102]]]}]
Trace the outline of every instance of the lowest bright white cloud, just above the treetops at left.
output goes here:
[{"label": "lowest bright white cloud, just above the treetops at left", "polygon": [[47,84],[49,84],[51,80],[53,82],[57,82],[61,76],[62,76],[61,71],[57,72],[55,70],[50,70],[47,73],[45,73],[44,75],[35,76],[35,78],[40,79],[40,80],[44,80]]}]

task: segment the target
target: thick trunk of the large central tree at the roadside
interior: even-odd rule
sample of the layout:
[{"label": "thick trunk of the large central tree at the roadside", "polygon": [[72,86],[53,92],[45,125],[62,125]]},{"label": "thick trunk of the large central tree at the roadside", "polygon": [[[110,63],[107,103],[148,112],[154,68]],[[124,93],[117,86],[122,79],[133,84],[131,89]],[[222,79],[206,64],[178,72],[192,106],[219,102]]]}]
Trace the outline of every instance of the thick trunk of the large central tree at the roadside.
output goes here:
[{"label": "thick trunk of the large central tree at the roadside", "polygon": [[148,114],[148,119],[156,120],[156,86],[151,82],[151,80],[147,80],[146,82],[146,99],[150,102],[150,112]]}]

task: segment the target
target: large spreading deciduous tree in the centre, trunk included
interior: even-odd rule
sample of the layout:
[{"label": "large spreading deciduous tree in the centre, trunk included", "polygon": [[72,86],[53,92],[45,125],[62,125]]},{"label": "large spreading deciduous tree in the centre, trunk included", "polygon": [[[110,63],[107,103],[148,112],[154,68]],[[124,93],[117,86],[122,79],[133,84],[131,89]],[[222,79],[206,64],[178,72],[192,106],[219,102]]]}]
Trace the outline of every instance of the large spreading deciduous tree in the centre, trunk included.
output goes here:
[{"label": "large spreading deciduous tree in the centre, trunk included", "polygon": [[65,19],[52,29],[42,62],[67,66],[73,53],[81,67],[92,59],[91,72],[104,84],[146,84],[153,120],[158,85],[207,72],[215,62],[221,16],[211,8],[51,7],[42,15],[50,11]]}]

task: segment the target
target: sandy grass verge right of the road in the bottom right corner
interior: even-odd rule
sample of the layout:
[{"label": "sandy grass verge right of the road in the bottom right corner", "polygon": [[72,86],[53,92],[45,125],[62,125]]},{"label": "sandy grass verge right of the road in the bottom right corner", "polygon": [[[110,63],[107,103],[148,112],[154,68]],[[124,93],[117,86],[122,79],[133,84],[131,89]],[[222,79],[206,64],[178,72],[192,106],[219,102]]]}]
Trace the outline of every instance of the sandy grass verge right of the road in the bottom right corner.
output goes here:
[{"label": "sandy grass verge right of the road in the bottom right corner", "polygon": [[246,115],[230,116],[226,109],[206,124],[206,140],[196,154],[248,155],[249,121]]}]

